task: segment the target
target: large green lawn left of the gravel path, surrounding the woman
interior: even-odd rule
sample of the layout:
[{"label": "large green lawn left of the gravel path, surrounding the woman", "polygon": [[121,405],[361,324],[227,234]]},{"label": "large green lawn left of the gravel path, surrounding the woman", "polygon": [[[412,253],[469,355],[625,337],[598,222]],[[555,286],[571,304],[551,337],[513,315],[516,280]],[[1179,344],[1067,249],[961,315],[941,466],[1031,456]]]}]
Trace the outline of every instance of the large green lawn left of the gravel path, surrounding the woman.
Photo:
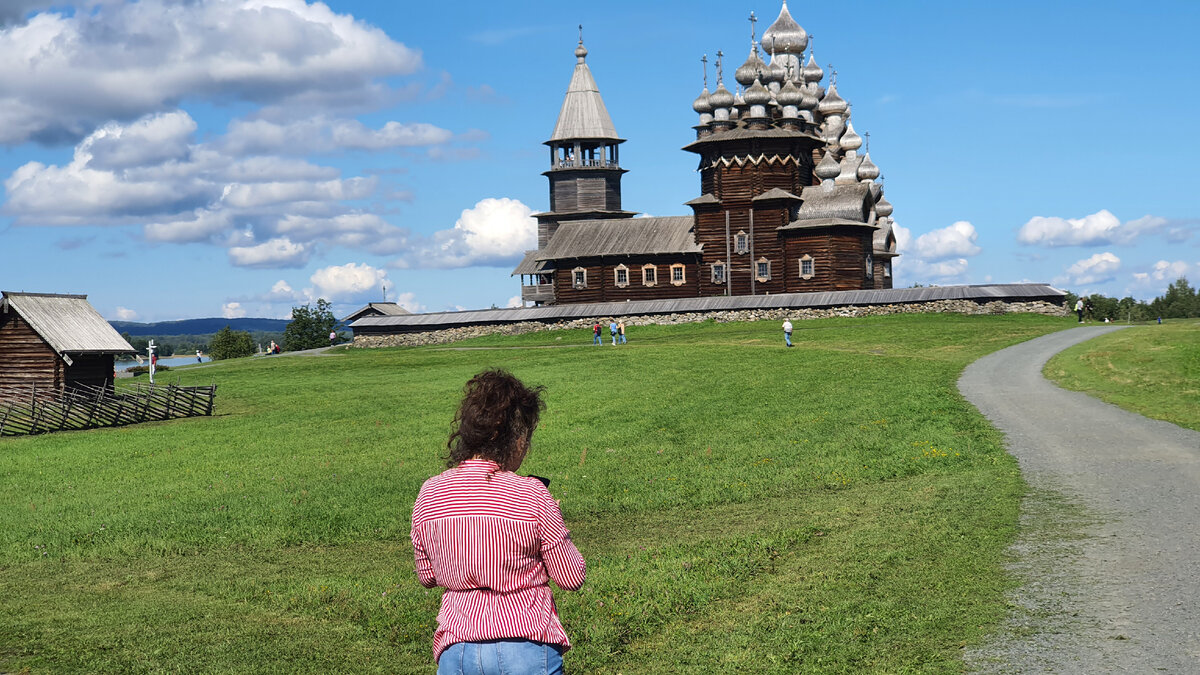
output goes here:
[{"label": "large green lawn left of the gravel path, surrounding the woman", "polygon": [[[1072,327],[892,316],[172,370],[217,414],[0,442],[0,671],[431,673],[409,515],[466,380],[547,387],[524,472],[588,561],[571,673],[959,673],[1024,485],[955,389]],[[540,348],[545,347],[545,348]]]}]

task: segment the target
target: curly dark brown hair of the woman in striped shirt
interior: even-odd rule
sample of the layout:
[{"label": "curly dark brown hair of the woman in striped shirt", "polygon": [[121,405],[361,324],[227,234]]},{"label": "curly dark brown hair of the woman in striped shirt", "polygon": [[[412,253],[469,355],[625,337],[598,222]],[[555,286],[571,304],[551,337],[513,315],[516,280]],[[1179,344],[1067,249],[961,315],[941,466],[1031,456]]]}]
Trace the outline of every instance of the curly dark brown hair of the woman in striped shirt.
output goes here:
[{"label": "curly dark brown hair of the woman in striped shirt", "polygon": [[509,468],[520,441],[533,435],[541,411],[546,410],[542,390],[544,387],[527,387],[498,368],[468,380],[446,442],[450,450],[446,466],[452,468],[478,456]]}]

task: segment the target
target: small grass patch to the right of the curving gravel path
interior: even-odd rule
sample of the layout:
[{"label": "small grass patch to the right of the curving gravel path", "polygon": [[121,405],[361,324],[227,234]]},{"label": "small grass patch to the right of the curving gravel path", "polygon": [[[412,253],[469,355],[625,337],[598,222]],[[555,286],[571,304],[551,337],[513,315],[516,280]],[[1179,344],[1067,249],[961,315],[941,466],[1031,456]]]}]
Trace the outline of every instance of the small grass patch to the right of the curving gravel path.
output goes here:
[{"label": "small grass patch to the right of the curving gravel path", "polygon": [[1200,431],[1200,321],[1135,325],[1055,356],[1044,374],[1126,410]]}]

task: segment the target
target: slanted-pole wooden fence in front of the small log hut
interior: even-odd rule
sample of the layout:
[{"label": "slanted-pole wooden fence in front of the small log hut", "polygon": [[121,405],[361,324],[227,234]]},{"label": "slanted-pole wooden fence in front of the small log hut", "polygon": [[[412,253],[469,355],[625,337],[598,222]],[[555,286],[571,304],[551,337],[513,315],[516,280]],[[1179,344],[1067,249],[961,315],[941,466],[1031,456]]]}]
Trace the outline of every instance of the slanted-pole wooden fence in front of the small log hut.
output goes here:
[{"label": "slanted-pole wooden fence in front of the small log hut", "polygon": [[217,386],[0,387],[0,436],[48,434],[212,414]]}]

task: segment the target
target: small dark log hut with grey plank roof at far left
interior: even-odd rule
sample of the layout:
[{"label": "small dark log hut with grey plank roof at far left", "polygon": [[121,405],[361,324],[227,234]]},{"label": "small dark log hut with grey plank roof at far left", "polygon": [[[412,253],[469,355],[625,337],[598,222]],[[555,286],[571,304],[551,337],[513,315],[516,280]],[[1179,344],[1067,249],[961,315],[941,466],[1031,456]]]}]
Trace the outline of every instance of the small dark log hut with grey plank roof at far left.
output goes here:
[{"label": "small dark log hut with grey plank roof at far left", "polygon": [[86,295],[0,294],[0,398],[112,388],[115,356],[133,353]]}]

